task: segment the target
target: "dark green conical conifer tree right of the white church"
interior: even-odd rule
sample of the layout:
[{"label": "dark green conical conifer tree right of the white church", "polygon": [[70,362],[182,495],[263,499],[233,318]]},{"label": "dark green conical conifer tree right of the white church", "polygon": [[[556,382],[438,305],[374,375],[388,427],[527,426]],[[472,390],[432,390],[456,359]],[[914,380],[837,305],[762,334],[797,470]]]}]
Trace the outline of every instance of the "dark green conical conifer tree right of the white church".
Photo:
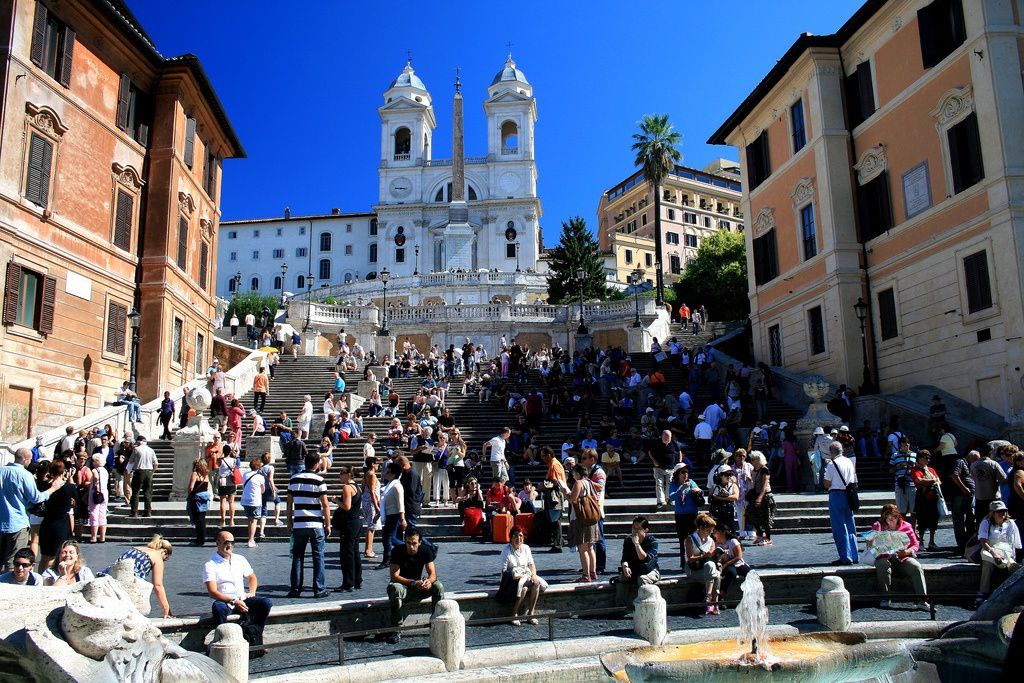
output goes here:
[{"label": "dark green conical conifer tree right of the white church", "polygon": [[562,222],[558,246],[551,252],[548,266],[548,300],[567,303],[580,298],[580,276],[583,268],[583,296],[585,299],[603,299],[607,295],[604,264],[597,240],[587,229],[587,221],[573,216]]}]

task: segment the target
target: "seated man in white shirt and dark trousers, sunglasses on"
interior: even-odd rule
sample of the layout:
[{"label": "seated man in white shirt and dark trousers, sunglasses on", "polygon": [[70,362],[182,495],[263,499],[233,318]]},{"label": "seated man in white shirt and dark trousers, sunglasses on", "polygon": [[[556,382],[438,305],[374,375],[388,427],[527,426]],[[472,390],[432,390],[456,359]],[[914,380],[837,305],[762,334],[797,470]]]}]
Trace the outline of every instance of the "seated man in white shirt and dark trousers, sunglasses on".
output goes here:
[{"label": "seated man in white shirt and dark trousers, sunglasses on", "polygon": [[219,626],[232,612],[248,614],[249,621],[262,629],[273,605],[266,598],[256,597],[259,586],[256,572],[249,560],[236,555],[233,550],[234,537],[230,531],[220,531],[217,533],[217,552],[203,567],[203,583],[206,584],[206,592],[213,598],[213,618]]}]

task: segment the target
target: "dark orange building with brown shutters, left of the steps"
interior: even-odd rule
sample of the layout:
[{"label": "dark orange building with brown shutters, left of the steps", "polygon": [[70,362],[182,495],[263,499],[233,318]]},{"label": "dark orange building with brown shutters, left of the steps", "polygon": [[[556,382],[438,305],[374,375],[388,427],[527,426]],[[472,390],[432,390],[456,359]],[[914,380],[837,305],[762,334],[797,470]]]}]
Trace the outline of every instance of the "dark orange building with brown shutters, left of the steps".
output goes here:
[{"label": "dark orange building with brown shutters, left of the steps", "polygon": [[114,399],[132,309],[143,400],[190,379],[186,360],[205,369],[220,163],[244,153],[198,59],[161,56],[123,3],[8,0],[0,16],[0,440],[12,442]]}]

